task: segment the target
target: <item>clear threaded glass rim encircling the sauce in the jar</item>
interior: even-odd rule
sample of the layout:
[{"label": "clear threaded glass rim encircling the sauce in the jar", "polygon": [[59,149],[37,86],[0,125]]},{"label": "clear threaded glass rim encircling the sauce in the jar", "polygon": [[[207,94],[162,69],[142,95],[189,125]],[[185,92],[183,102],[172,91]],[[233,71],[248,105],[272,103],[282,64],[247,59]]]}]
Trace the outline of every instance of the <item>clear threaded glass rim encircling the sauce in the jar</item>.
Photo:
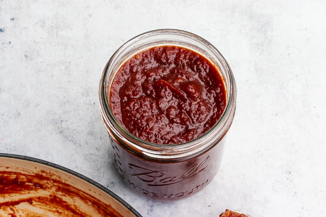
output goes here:
[{"label": "clear threaded glass rim encircling the sauce in the jar", "polygon": [[[111,88],[111,84],[108,84],[107,77],[110,73],[116,72],[110,72],[110,64],[114,61],[114,58],[117,58],[117,56],[125,51],[129,46],[133,46],[137,44],[140,40],[148,40],[151,39],[151,37],[156,36],[173,36],[173,37],[185,37],[190,38],[197,43],[200,43],[201,45],[207,47],[210,49],[211,52],[215,54],[215,57],[218,58],[219,61],[221,61],[221,65],[217,65],[215,62],[213,62],[211,59],[206,57],[203,53],[200,53],[201,55],[205,56],[208,60],[212,61],[212,63],[219,69],[219,67],[223,67],[226,70],[227,76],[229,76],[229,79],[226,80],[224,75],[221,75],[224,82],[230,82],[230,88],[227,89],[227,101],[226,106],[224,108],[224,111],[218,121],[215,123],[215,125],[209,129],[207,132],[205,132],[203,135],[199,136],[196,139],[190,140],[188,142],[178,143],[178,144],[157,144],[153,142],[148,142],[145,140],[140,139],[139,137],[136,137],[132,133],[130,133],[127,129],[125,129],[119,121],[115,118],[111,111],[110,103],[109,103],[109,92],[107,91],[108,88]],[[171,41],[173,43],[173,41]],[[160,44],[155,44],[152,46],[147,47],[146,49],[150,47],[156,47]],[[164,43],[164,45],[166,45]],[[178,44],[174,44],[175,46],[178,46]],[[187,47],[190,48],[191,47]],[[196,50],[195,50],[196,51]],[[199,52],[198,50],[196,52]],[[129,54],[127,58],[124,59],[122,63],[124,63],[126,60],[128,60],[131,56],[139,53],[139,51],[135,51]],[[120,66],[121,64],[120,63]],[[118,67],[117,70],[120,68]],[[117,71],[116,70],[116,71]],[[114,78],[114,76],[113,76]],[[113,80],[113,79],[112,79]],[[227,85],[226,83],[224,84]],[[227,87],[226,87],[227,88]],[[144,155],[149,158],[160,158],[160,159],[171,159],[171,158],[187,158],[194,155],[199,155],[203,151],[207,150],[208,148],[211,148],[216,143],[218,143],[219,140],[221,140],[225,133],[230,128],[231,122],[233,120],[234,110],[235,110],[235,99],[236,99],[236,86],[234,81],[234,76],[232,74],[232,71],[230,69],[229,64],[224,59],[222,54],[208,41],[201,38],[200,36],[196,34],[192,34],[186,31],[182,30],[176,30],[176,29],[159,29],[159,30],[153,30],[149,32],[145,32],[142,34],[139,34],[132,39],[128,40],[126,43],[124,43],[121,47],[119,47],[111,56],[111,58],[107,61],[102,75],[100,79],[99,84],[99,104],[100,104],[100,112],[102,116],[103,123],[105,124],[107,130],[109,133],[113,134],[111,136],[117,136],[119,138],[120,143],[124,143],[127,147],[127,149],[131,150],[133,153]],[[231,120],[230,120],[231,118]],[[213,140],[213,141],[212,141]],[[214,142],[215,143],[212,143]]]}]

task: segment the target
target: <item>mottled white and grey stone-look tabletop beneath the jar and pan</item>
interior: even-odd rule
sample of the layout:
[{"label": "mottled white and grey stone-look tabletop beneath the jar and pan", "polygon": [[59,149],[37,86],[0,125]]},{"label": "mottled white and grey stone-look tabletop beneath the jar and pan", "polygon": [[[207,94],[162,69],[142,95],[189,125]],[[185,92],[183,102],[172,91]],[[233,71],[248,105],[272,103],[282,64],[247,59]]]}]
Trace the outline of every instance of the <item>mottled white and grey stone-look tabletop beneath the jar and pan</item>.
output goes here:
[{"label": "mottled white and grey stone-look tabletop beneath the jar and pan", "polygon": [[[295,3],[294,3],[295,2]],[[326,2],[0,1],[0,152],[108,187],[144,217],[326,214]],[[143,32],[210,41],[237,82],[221,168],[199,194],[162,203],[126,188],[98,109],[110,55]]]}]

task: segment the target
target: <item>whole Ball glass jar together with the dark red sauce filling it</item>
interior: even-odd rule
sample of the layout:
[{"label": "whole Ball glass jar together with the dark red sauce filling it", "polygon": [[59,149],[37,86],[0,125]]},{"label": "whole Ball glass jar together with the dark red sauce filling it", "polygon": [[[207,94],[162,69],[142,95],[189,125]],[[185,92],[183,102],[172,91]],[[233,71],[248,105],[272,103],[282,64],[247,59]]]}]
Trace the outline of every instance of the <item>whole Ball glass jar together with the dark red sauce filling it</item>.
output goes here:
[{"label": "whole Ball glass jar together with the dark red sauce filling it", "polygon": [[155,30],[107,62],[100,111],[114,164],[133,191],[156,200],[190,197],[214,178],[235,112],[228,63],[209,42]]}]

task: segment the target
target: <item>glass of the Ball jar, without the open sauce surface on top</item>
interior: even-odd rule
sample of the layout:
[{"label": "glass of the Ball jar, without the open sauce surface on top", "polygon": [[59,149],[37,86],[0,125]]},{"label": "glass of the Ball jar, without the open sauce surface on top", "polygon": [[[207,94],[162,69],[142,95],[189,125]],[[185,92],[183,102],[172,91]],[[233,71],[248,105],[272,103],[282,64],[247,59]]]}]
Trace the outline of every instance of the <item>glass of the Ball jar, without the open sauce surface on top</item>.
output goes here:
[{"label": "glass of the Ball jar, without the open sauce surface on top", "polygon": [[[135,54],[156,46],[185,47],[216,66],[226,88],[226,106],[216,124],[202,136],[180,144],[156,144],[128,132],[110,108],[109,93],[120,67]],[[221,164],[225,135],[233,121],[236,86],[230,66],[220,52],[195,34],[163,29],[138,35],[122,45],[104,67],[99,84],[103,123],[110,134],[114,164],[132,190],[161,201],[192,196],[214,178]]]}]

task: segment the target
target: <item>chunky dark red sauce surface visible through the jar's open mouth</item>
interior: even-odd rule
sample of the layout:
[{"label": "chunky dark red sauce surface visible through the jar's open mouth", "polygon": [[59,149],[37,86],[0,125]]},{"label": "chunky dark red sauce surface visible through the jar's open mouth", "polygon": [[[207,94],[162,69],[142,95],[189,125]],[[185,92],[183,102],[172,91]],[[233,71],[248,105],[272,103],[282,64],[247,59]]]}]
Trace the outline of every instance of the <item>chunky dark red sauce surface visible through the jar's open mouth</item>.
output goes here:
[{"label": "chunky dark red sauce surface visible through the jar's open mouth", "polygon": [[226,104],[223,79],[205,57],[159,46],[130,58],[117,72],[110,106],[135,136],[158,144],[195,139],[212,128]]}]

